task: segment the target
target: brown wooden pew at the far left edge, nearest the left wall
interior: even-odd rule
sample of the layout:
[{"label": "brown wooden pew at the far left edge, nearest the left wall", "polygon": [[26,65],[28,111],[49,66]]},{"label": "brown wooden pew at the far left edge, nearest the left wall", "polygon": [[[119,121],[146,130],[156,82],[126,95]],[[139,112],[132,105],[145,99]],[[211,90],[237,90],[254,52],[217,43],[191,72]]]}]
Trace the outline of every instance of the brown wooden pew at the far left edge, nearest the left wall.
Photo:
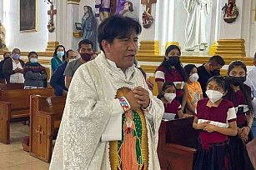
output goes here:
[{"label": "brown wooden pew at the far left edge, nearest the left wall", "polygon": [[53,96],[53,88],[0,90],[0,143],[10,143],[10,122],[29,119],[33,94]]}]

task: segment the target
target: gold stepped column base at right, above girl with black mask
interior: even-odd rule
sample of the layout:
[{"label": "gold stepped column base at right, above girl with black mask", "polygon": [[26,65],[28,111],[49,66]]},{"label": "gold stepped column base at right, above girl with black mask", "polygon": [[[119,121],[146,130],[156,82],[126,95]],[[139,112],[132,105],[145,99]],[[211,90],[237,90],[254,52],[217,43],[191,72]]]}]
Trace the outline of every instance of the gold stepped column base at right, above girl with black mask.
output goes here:
[{"label": "gold stepped column base at right, above girl with black mask", "polygon": [[215,54],[223,57],[245,57],[244,40],[220,39]]}]

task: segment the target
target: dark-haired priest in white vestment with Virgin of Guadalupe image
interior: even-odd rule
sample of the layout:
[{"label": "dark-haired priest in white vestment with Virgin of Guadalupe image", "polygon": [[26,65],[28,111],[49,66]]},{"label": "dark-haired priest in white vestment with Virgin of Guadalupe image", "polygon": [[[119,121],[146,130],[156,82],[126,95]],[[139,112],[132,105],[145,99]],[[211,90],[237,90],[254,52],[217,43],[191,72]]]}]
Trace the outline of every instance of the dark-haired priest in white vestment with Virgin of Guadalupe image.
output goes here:
[{"label": "dark-haired priest in white vestment with Virgin of Guadalupe image", "polygon": [[141,30],[137,21],[120,16],[99,25],[102,52],[73,76],[51,170],[160,169],[163,102],[133,64]]}]

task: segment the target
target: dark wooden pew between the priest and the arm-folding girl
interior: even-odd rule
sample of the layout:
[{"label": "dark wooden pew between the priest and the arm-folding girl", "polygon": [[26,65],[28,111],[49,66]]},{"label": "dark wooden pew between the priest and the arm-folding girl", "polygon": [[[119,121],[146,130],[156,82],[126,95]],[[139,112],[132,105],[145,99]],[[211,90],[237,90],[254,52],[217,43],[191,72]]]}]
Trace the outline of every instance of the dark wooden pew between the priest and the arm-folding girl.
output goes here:
[{"label": "dark wooden pew between the priest and the arm-folding girl", "polygon": [[193,117],[162,121],[159,129],[158,158],[161,169],[192,170],[198,132]]}]

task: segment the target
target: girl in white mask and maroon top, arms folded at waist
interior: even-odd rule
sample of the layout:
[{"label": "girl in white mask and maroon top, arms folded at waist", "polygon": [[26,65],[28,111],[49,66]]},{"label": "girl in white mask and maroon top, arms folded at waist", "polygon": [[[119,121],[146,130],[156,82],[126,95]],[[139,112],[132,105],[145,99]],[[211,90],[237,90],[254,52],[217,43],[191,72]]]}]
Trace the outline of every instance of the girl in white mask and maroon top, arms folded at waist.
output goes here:
[{"label": "girl in white mask and maroon top, arms folded at waist", "polygon": [[233,169],[228,136],[238,133],[233,102],[223,99],[227,93],[223,77],[207,82],[208,97],[198,101],[193,128],[199,130],[198,155],[194,170]]}]

